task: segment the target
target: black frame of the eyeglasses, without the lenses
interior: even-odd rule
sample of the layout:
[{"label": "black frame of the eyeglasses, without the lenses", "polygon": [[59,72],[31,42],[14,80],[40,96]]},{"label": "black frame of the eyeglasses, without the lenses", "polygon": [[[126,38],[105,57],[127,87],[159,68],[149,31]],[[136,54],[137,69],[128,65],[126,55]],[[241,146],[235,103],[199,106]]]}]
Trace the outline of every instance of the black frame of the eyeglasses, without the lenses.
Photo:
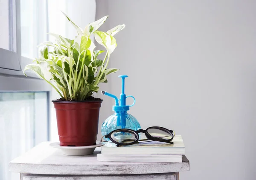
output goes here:
[{"label": "black frame of the eyeglasses, without the lenses", "polygon": [[[171,139],[163,139],[163,138],[160,138],[160,137],[153,137],[151,136],[149,133],[148,133],[148,129],[159,129],[159,130],[162,130],[162,131],[166,131],[168,133],[171,133],[172,134],[172,138]],[[119,142],[116,142],[115,140],[112,139],[111,135],[114,133],[114,132],[118,132],[118,131],[122,131],[122,132],[133,132],[135,135],[137,135],[136,137],[136,140],[134,142],[131,142],[131,143],[119,143]],[[102,139],[104,137],[106,138],[109,138],[111,140],[112,143],[115,143],[119,146],[129,146],[129,145],[132,145],[132,144],[135,144],[135,143],[138,143],[139,142],[139,133],[144,133],[147,137],[147,140],[152,140],[152,141],[160,141],[160,142],[165,142],[165,143],[170,143],[170,144],[173,144],[172,140],[173,138],[175,137],[175,134],[173,134],[174,131],[172,130],[169,130],[169,129],[166,129],[166,128],[163,128],[163,127],[159,127],[159,126],[152,126],[152,127],[149,127],[147,128],[146,130],[143,130],[143,129],[139,129],[137,131],[134,131],[132,129],[116,129],[116,130],[113,130],[111,131],[109,134],[106,134],[105,136],[103,136],[101,138],[101,142],[103,141]]]}]

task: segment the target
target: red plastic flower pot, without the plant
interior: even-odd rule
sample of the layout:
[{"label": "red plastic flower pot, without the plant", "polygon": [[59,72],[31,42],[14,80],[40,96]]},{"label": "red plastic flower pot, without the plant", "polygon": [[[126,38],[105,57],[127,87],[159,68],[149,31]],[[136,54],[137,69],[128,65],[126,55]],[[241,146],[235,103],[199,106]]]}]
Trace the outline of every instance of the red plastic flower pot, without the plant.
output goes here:
[{"label": "red plastic flower pot, without the plant", "polygon": [[56,110],[61,146],[96,144],[102,101],[52,101]]}]

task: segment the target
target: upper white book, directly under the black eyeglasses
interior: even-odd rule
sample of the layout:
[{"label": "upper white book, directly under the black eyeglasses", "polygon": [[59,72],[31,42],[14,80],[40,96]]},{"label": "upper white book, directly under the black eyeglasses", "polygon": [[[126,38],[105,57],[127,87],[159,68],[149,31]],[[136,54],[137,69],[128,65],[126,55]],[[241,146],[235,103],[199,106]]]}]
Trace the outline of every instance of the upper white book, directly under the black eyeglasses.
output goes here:
[{"label": "upper white book, directly under the black eyeglasses", "polygon": [[115,143],[106,143],[102,146],[102,154],[124,155],[182,155],[185,154],[185,146],[181,135],[175,135],[173,144],[151,141],[136,143],[130,146],[119,146]]}]

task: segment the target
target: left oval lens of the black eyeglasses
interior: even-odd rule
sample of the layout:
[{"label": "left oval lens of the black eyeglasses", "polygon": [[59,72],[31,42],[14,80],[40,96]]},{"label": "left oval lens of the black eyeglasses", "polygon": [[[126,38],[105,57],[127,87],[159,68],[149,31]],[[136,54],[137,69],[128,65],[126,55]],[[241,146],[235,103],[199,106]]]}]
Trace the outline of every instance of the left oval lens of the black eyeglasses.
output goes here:
[{"label": "left oval lens of the black eyeglasses", "polygon": [[137,140],[137,134],[133,131],[115,131],[111,134],[111,138],[118,143],[133,143]]}]

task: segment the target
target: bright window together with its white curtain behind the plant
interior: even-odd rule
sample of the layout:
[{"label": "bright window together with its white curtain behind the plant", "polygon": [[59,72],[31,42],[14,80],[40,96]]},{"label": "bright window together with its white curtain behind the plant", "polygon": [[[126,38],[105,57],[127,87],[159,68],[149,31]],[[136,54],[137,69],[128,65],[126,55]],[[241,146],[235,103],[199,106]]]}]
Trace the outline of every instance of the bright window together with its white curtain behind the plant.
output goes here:
[{"label": "bright window together with its white curtain behind the plant", "polygon": [[0,0],[0,180],[19,179],[8,171],[9,161],[42,141],[58,140],[55,109],[49,101],[58,94],[34,73],[28,71],[25,77],[23,69],[38,56],[40,43],[53,40],[47,32],[76,36],[61,11],[85,27],[95,21],[96,2]]}]

